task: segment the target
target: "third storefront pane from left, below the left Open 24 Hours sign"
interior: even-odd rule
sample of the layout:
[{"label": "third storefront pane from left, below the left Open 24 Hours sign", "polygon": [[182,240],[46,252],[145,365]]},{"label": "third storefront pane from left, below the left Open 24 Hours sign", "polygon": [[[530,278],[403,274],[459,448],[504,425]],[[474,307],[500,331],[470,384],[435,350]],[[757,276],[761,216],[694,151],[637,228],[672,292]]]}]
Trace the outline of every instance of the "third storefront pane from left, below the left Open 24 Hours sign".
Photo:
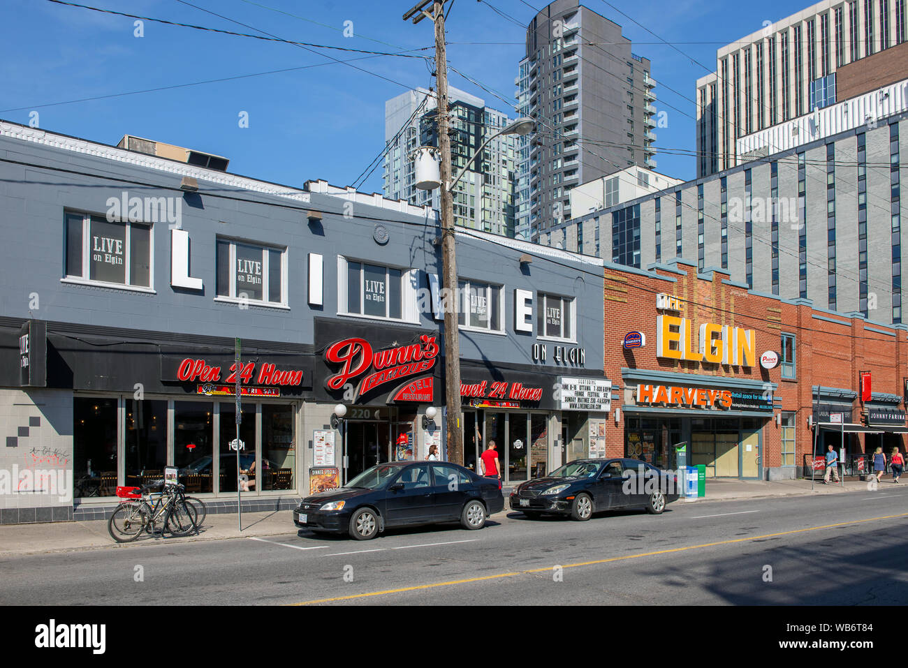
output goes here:
[{"label": "third storefront pane from left, below the left Open 24 Hours sign", "polygon": [[173,466],[189,494],[214,491],[213,412],[211,401],[173,402]]}]

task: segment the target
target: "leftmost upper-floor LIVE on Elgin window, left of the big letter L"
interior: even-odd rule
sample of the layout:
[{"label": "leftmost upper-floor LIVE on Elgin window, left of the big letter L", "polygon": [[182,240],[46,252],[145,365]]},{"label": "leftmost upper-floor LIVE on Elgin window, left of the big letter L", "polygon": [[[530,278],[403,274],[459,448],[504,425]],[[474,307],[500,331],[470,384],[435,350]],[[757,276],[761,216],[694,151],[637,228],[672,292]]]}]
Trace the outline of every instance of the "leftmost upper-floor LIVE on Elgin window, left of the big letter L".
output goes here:
[{"label": "leftmost upper-floor LIVE on Elgin window, left of the big letter L", "polygon": [[65,214],[65,276],[126,287],[152,287],[152,226]]}]

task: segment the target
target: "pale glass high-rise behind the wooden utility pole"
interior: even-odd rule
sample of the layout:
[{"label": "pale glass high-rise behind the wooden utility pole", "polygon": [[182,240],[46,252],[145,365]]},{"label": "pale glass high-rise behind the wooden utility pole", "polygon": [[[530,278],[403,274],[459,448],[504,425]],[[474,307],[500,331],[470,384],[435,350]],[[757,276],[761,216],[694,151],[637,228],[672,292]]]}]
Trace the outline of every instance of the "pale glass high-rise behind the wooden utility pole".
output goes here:
[{"label": "pale glass high-rise behind the wooden utility pole", "polygon": [[[475,95],[449,88],[451,165],[458,173],[476,156],[454,188],[454,222],[461,227],[514,236],[517,136],[501,135],[481,155],[479,145],[513,119],[486,106]],[[438,146],[436,101],[424,88],[401,93],[385,103],[385,197],[439,210],[439,191],[416,188],[413,152]]]}]

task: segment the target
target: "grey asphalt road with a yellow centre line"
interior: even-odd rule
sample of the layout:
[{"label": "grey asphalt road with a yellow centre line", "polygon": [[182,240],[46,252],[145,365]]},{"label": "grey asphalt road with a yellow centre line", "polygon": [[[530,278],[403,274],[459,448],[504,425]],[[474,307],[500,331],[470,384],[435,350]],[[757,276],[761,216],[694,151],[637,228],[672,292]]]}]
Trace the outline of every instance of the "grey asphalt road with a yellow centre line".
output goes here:
[{"label": "grey asphalt road with a yellow centre line", "polygon": [[289,526],[5,557],[0,604],[904,604],[906,527],[908,486],[584,523],[508,511],[368,542]]}]

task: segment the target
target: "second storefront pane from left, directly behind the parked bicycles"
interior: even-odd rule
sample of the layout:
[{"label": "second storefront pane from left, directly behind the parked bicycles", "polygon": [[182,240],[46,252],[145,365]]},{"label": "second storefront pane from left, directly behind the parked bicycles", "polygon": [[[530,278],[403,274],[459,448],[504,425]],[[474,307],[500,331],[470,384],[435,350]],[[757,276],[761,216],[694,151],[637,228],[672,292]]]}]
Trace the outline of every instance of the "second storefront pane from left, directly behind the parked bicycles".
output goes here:
[{"label": "second storefront pane from left, directly behind the parked bicycles", "polygon": [[148,485],[167,464],[167,402],[126,401],[126,485]]}]

